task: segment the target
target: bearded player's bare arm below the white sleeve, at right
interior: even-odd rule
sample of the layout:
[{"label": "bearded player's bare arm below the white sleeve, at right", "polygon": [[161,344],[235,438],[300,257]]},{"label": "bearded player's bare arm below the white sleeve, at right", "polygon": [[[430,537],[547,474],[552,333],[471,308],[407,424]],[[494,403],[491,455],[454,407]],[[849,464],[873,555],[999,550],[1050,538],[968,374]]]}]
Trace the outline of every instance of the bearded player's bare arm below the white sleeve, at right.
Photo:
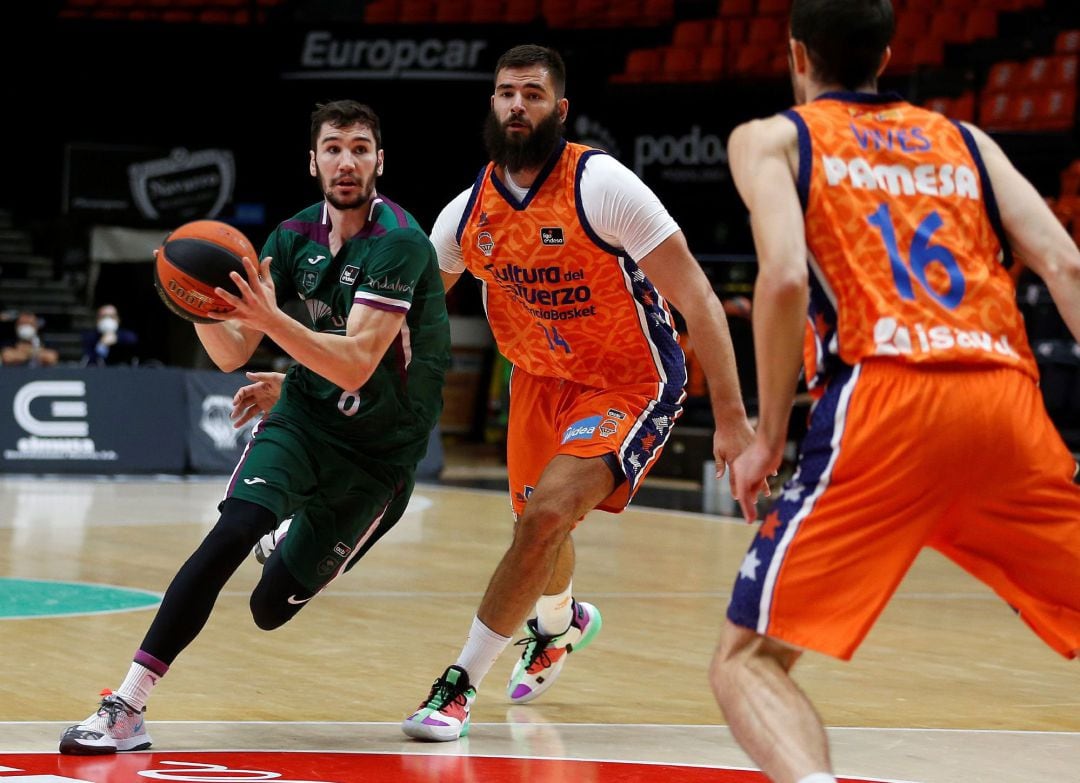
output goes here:
[{"label": "bearded player's bare arm below the white sleeve, at right", "polygon": [[754,431],[746,419],[734,349],[728,332],[724,306],[713,292],[705,273],[687,247],[686,237],[676,231],[640,262],[642,270],[686,319],[708,386],[716,421],[713,456],[717,476],[750,444]]}]

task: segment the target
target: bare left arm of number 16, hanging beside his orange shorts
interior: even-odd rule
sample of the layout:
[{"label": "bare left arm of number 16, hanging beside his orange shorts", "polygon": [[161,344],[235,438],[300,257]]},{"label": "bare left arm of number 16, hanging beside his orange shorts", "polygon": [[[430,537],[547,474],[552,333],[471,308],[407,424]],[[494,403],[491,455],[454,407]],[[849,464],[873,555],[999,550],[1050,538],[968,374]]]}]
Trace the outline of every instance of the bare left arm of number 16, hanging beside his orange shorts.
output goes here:
[{"label": "bare left arm of number 16, hanging beside his orange shorts", "polygon": [[795,187],[797,145],[795,125],[783,117],[744,123],[728,140],[728,160],[750,211],[758,262],[753,311],[757,432],[731,469],[732,495],[748,521],[756,518],[758,488],[783,458],[802,360],[809,293],[802,206]]}]

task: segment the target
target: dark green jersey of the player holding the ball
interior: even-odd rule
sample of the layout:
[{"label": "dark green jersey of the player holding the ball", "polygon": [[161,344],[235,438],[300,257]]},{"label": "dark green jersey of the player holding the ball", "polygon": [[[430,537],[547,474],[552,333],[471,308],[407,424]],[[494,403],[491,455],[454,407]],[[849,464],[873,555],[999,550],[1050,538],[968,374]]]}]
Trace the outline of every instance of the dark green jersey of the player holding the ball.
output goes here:
[{"label": "dark green jersey of the player holding the ball", "polygon": [[320,202],[270,234],[260,257],[273,258],[279,303],[299,297],[316,332],[343,335],[354,306],[403,312],[405,324],[361,389],[341,389],[307,367],[291,367],[271,416],[315,427],[373,458],[415,464],[442,411],[450,359],[434,247],[409,213],[381,197],[367,226],[337,256],[330,254],[329,232]]}]

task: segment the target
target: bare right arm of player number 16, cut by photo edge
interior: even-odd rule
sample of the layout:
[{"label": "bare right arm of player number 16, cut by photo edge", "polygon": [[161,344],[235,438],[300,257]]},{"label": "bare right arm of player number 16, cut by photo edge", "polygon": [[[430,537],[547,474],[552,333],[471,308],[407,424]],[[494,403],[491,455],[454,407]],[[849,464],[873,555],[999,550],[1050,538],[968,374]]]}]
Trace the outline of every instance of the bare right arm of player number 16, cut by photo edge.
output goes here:
[{"label": "bare right arm of player number 16, cut by photo edge", "polygon": [[1009,161],[997,143],[966,126],[986,164],[1009,243],[1047,283],[1072,337],[1080,340],[1080,251],[1039,191]]}]

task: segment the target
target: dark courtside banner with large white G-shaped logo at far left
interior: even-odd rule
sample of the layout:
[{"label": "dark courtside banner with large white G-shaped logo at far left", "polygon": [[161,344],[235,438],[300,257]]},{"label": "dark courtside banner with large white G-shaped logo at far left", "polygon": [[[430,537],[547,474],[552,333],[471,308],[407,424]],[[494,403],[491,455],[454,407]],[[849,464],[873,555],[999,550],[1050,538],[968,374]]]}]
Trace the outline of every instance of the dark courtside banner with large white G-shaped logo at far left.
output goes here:
[{"label": "dark courtside banner with large white G-shaped logo at far left", "polygon": [[0,472],[183,473],[183,369],[0,369]]}]

